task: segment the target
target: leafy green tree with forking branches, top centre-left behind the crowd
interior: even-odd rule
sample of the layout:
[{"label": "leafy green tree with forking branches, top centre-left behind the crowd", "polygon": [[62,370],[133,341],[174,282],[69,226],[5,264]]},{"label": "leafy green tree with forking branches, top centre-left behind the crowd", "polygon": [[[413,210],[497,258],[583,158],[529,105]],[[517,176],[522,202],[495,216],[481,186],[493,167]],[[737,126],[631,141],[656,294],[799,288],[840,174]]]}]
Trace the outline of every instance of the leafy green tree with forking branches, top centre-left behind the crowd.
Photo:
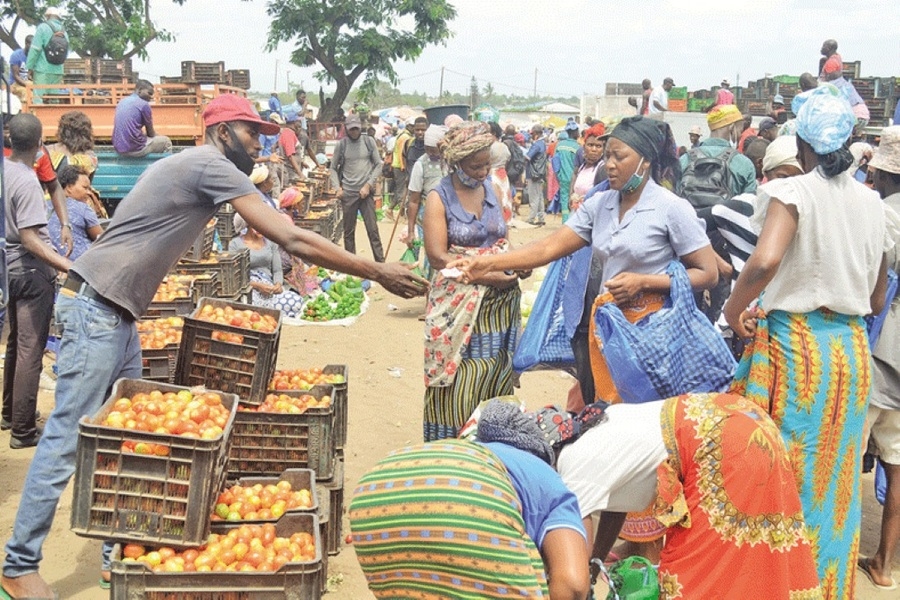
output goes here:
[{"label": "leafy green tree with forking branches, top centre-left behind the crowd", "polygon": [[269,0],[266,11],[272,18],[267,49],[293,43],[291,62],[318,64],[315,77],[336,85],[322,120],[334,117],[363,75],[358,91],[363,99],[372,97],[382,78],[397,85],[394,63],[443,43],[456,17],[446,0]]}]

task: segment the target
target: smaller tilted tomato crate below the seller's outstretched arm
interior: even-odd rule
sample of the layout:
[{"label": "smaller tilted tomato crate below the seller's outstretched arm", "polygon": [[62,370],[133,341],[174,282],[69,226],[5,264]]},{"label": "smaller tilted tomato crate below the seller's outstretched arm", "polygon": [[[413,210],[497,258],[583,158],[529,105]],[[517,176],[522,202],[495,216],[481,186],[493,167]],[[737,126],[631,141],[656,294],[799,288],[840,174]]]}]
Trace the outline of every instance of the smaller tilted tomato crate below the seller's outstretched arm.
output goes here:
[{"label": "smaller tilted tomato crate below the seller's outstretched arm", "polygon": [[175,381],[223,390],[259,405],[275,371],[280,335],[279,310],[202,298],[184,320]]}]

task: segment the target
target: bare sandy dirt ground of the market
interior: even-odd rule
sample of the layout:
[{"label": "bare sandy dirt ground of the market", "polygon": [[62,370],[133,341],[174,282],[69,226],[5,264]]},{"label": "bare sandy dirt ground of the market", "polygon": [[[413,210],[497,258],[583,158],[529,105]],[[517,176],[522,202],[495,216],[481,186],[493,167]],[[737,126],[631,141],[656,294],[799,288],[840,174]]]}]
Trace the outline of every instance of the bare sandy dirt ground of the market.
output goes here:
[{"label": "bare sandy dirt ground of the market", "polygon": [[[513,230],[514,244],[547,235],[559,226],[551,221],[541,229]],[[391,225],[382,222],[387,246]],[[399,228],[398,228],[399,229]],[[371,256],[364,229],[357,230],[357,248]],[[402,254],[394,241],[388,258]],[[528,284],[526,283],[526,286]],[[377,288],[377,286],[376,286]],[[402,300],[374,289],[368,312],[351,327],[286,327],[281,335],[279,368],[302,368],[325,364],[347,364],[350,369],[349,433],[346,447],[345,506],[362,474],[388,451],[422,439],[422,323],[424,300]],[[526,373],[519,395],[530,407],[564,403],[573,380],[558,372]],[[41,391],[39,408],[53,408],[51,393]],[[9,539],[19,506],[22,483],[33,450],[10,450],[8,432],[0,434],[0,543]],[[873,497],[872,476],[863,477],[864,509],[861,552],[873,553],[878,544],[881,507]],[[100,542],[76,536],[69,530],[71,486],[63,495],[47,543],[41,573],[61,598],[94,600],[108,597],[97,586]],[[344,533],[348,532],[344,519]],[[900,579],[900,555],[894,558],[894,577]],[[344,546],[329,561],[330,593],[327,598],[358,600],[371,598],[352,546]],[[897,592],[880,592],[858,572],[857,598],[880,600]],[[599,586],[598,586],[598,592]],[[600,598],[605,594],[599,594]]]}]

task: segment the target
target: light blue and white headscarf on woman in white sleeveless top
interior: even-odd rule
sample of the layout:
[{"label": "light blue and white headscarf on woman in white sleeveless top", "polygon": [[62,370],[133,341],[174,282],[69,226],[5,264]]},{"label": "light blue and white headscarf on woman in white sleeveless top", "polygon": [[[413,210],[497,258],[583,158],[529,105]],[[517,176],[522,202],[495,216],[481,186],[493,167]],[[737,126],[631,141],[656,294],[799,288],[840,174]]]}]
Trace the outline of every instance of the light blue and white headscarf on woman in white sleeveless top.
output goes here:
[{"label": "light blue and white headscarf on woman in white sleeveless top", "polygon": [[856,124],[850,103],[833,85],[797,94],[791,110],[797,115],[797,135],[820,156],[842,148]]}]

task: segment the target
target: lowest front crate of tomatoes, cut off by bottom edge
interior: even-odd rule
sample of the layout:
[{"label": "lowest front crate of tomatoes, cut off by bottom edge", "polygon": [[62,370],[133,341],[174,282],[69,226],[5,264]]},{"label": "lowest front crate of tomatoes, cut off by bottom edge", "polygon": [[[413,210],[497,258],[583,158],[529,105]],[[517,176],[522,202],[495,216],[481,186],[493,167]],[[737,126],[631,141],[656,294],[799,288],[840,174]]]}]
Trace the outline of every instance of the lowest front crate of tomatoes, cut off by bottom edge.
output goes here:
[{"label": "lowest front crate of tomatoes, cut off by bottom edge", "polygon": [[318,517],[290,513],[277,523],[216,524],[198,548],[117,545],[112,600],[319,600]]}]

